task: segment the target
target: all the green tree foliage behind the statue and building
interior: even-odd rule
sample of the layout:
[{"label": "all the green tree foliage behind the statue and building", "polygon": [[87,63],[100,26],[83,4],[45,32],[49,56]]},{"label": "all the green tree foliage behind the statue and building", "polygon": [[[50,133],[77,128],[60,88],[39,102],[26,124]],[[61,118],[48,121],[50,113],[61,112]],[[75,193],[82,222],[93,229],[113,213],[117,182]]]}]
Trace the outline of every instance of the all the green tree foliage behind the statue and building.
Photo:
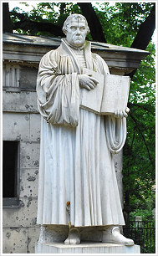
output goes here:
[{"label": "all the green tree foliage behind the statue and building", "polygon": [[10,16],[18,33],[62,37],[69,13],[83,13],[88,19],[89,39],[138,49],[147,47],[150,51],[140,68],[130,74],[130,115],[123,165],[125,210],[144,209],[155,183],[155,44],[150,41],[155,29],[155,3],[49,2],[38,3],[27,13],[13,8]]}]

